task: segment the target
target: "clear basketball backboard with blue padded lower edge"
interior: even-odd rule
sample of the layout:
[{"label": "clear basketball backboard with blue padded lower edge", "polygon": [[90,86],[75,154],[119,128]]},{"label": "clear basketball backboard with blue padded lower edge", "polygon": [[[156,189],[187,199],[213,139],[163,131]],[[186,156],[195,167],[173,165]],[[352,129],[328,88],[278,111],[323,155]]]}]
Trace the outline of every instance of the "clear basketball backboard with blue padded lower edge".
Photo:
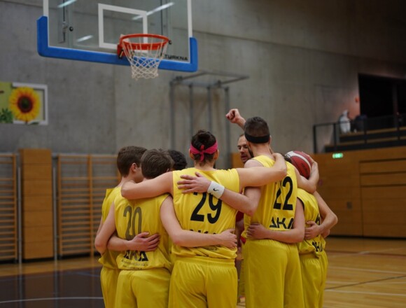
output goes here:
[{"label": "clear basketball backboard with blue padded lower edge", "polygon": [[125,34],[171,41],[159,69],[197,71],[191,0],[43,0],[38,53],[44,57],[130,65],[117,56]]}]

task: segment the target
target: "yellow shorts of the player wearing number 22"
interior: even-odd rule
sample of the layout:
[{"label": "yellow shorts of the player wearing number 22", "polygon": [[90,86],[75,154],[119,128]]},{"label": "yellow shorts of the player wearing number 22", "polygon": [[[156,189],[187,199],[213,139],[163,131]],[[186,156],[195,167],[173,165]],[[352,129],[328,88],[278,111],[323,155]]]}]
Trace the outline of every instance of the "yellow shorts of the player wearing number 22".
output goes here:
[{"label": "yellow shorts of the player wearing number 22", "polygon": [[247,308],[304,307],[296,244],[251,239],[243,253]]}]

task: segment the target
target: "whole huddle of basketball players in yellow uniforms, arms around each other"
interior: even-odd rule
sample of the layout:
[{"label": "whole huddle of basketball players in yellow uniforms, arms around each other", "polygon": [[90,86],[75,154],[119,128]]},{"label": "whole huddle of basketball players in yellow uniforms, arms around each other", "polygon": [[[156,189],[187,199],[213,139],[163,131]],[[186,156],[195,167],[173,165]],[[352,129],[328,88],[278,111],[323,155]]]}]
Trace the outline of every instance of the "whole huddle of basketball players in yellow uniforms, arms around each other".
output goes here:
[{"label": "whole huddle of basketball players in yellow uniforms, arms around each other", "polygon": [[215,169],[218,144],[204,130],[191,168],[176,151],[118,153],[121,181],[106,191],[94,242],[106,307],[235,308],[243,295],[246,307],[323,306],[324,238],[337,216],[316,193],[316,162],[307,179],[272,151],[265,120],[226,117],[244,130],[244,168]]}]

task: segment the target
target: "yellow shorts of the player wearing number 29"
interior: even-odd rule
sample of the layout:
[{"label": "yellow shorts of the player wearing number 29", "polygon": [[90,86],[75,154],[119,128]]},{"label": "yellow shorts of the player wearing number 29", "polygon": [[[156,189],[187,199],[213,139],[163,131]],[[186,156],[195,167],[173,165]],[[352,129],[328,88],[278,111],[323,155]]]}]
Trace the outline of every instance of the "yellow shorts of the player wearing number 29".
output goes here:
[{"label": "yellow shorts of the player wearing number 29", "polygon": [[169,308],[235,308],[237,269],[234,259],[176,258]]}]

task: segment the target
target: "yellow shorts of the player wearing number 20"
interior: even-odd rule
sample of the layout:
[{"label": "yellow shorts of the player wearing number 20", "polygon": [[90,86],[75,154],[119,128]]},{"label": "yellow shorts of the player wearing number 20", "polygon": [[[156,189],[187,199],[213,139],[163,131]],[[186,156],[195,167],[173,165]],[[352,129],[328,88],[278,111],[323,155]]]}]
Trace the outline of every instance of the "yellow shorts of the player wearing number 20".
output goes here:
[{"label": "yellow shorts of the player wearing number 20", "polygon": [[160,267],[122,270],[118,275],[116,307],[167,308],[171,273]]}]

